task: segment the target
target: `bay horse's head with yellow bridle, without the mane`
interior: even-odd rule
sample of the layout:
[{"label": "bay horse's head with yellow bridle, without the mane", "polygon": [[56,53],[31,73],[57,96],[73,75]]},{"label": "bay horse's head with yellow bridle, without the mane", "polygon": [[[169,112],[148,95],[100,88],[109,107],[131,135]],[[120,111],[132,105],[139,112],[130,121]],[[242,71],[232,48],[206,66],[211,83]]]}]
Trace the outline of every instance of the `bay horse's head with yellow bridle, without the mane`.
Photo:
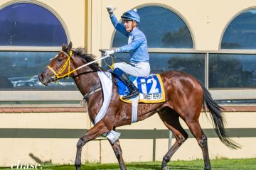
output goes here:
[{"label": "bay horse's head with yellow bridle, without the mane", "polygon": [[38,78],[42,84],[47,86],[52,81],[70,76],[70,70],[74,69],[73,61],[71,60],[73,51],[71,49],[72,42],[68,46],[63,44],[62,50],[50,60],[48,67],[39,74]]}]

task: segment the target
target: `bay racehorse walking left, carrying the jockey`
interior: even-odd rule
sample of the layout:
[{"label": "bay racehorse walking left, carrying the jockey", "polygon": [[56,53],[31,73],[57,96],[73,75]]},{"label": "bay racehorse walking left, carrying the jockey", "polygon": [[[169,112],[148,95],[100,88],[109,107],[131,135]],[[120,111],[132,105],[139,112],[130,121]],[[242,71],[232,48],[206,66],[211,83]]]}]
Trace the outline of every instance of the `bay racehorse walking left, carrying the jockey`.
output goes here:
[{"label": "bay racehorse walking left, carrying the jockey", "polygon": [[[72,42],[68,46],[62,46],[62,51],[58,53],[51,61],[48,67],[38,75],[42,84],[48,85],[52,81],[57,81],[63,77],[73,77],[79,91],[85,97],[90,120],[93,122],[97,113],[100,111],[103,102],[102,91],[95,91],[96,84],[100,83],[97,72],[102,69],[98,63],[93,62],[95,59],[92,55],[88,55],[81,48],[72,50]],[[82,65],[93,62],[90,65],[82,67]],[[68,66],[68,67],[67,67]],[[82,68],[80,68],[82,67]],[[80,68],[80,69],[77,69]],[[225,118],[223,116],[223,108],[218,106],[209,91],[203,84],[190,74],[178,71],[169,71],[161,73],[161,79],[164,83],[166,101],[162,103],[139,103],[137,120],[142,121],[149,118],[154,113],[158,113],[164,125],[171,130],[176,137],[176,142],[169,151],[164,155],[161,169],[169,169],[167,163],[170,161],[176,150],[181,147],[183,142],[188,139],[188,134],[181,127],[179,118],[181,118],[189,130],[196,138],[198,145],[203,151],[204,169],[211,169],[208,154],[207,137],[203,133],[198,118],[203,108],[210,112],[213,120],[213,126],[216,134],[221,142],[230,149],[238,149],[240,146],[230,140],[225,132]],[[88,95],[88,93],[90,93]],[[207,107],[206,107],[207,106]],[[77,143],[77,152],[75,158],[76,170],[80,170],[82,147],[111,130],[122,125],[130,125],[132,119],[132,103],[124,103],[119,100],[119,92],[116,85],[112,86],[112,98],[107,113],[102,120],[96,123],[85,135],[80,137]],[[119,140],[110,142],[114,154],[119,162],[120,169],[126,169],[122,158],[122,149]]]}]

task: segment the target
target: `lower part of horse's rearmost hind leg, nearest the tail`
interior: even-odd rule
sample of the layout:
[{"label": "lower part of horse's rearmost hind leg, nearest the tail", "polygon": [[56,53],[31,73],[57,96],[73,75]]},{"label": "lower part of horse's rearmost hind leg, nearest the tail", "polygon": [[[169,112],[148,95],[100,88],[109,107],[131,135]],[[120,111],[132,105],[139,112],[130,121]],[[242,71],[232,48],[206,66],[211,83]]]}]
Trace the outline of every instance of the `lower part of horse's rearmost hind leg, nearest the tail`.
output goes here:
[{"label": "lower part of horse's rearmost hind leg, nearest the tail", "polygon": [[203,152],[203,160],[205,163],[205,170],[210,170],[210,158],[208,153],[207,137],[203,133],[203,130],[198,122],[198,120],[186,121],[189,130],[191,130],[194,137],[198,141],[198,145],[201,147]]}]

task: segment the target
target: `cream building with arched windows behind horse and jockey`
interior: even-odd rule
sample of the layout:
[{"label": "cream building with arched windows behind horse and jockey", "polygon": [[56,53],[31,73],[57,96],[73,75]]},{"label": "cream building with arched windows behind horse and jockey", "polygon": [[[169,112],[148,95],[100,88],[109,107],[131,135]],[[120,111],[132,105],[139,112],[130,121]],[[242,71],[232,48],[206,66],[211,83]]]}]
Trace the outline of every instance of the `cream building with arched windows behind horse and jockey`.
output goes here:
[{"label": "cream building with arched windows behind horse and jockey", "polygon": [[[46,87],[37,75],[63,43],[72,41],[96,57],[102,55],[99,49],[127,44],[112,27],[105,9],[109,5],[117,8],[117,18],[137,8],[152,73],[188,72],[225,108],[228,131],[242,149],[226,148],[202,114],[210,158],[255,157],[255,1],[1,0],[0,150],[6,154],[0,155],[0,166],[38,159],[73,164],[76,142],[92,126],[82,95],[72,80]],[[117,55],[128,60],[127,54]],[[102,67],[107,69],[103,62]],[[161,160],[167,152],[169,132],[158,115],[118,130],[127,162]],[[197,145],[191,136],[173,159],[202,158]],[[85,145],[82,161],[117,162],[101,138]]]}]

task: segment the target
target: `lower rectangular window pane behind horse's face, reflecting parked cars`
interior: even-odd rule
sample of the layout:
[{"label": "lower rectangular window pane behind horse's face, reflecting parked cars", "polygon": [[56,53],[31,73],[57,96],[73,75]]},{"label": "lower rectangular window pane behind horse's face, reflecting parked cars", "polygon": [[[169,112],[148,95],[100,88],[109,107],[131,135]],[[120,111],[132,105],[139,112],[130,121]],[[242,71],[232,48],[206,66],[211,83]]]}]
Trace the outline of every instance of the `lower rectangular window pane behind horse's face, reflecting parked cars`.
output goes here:
[{"label": "lower rectangular window pane behind horse's face, reflecting parked cars", "polygon": [[74,90],[72,79],[61,79],[58,84],[43,86],[38,74],[48,65],[57,52],[1,52],[0,90]]}]

